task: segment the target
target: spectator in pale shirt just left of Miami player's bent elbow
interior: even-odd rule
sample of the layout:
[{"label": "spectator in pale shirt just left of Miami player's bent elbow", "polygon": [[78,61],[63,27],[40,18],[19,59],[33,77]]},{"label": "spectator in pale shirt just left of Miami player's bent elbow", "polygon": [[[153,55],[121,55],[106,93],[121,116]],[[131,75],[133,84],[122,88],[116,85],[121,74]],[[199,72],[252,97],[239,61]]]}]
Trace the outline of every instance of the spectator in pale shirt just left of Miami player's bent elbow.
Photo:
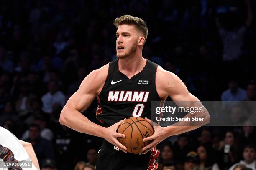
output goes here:
[{"label": "spectator in pale shirt just left of Miami player's bent elbow", "polygon": [[41,98],[41,101],[43,102],[42,110],[51,114],[54,103],[59,103],[64,107],[66,97],[61,91],[59,91],[58,83],[55,81],[50,81],[48,83],[48,90],[49,92]]}]

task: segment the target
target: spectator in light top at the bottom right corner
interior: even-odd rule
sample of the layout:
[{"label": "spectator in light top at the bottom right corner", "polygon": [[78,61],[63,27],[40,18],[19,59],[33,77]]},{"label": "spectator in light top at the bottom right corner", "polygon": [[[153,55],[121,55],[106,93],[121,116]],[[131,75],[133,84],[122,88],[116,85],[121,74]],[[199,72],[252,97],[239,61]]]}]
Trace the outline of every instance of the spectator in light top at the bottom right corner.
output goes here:
[{"label": "spectator in light top at the bottom right corner", "polygon": [[247,168],[256,170],[256,153],[254,145],[246,145],[243,150],[243,160],[240,160],[239,163],[235,163],[229,170],[235,169],[236,165],[245,165]]}]

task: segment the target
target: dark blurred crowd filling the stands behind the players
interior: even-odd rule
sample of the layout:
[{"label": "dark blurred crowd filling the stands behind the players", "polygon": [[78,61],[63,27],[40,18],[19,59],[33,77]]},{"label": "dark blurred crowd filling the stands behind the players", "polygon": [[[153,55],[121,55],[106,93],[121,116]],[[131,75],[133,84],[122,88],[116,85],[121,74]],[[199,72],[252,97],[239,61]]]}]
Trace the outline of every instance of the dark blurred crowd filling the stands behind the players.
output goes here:
[{"label": "dark blurred crowd filling the stands behind the players", "polygon": [[[148,25],[143,57],[200,100],[255,100],[256,0],[2,0],[0,125],[43,170],[94,170],[102,139],[59,124],[84,77],[115,58],[121,15]],[[97,100],[83,112],[92,122]],[[255,170],[254,126],[202,127],[159,146],[159,170]]]}]

